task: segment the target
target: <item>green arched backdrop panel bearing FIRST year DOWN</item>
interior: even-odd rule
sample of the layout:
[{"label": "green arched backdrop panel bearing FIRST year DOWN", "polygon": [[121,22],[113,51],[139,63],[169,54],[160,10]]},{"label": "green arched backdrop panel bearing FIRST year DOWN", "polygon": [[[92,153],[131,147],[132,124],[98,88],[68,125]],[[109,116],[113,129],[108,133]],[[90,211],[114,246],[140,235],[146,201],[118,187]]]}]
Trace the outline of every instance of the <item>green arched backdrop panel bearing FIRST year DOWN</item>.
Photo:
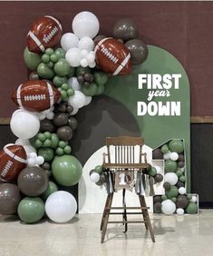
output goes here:
[{"label": "green arched backdrop panel bearing FIRST year DOWN", "polygon": [[[169,97],[154,97],[152,102],[180,102],[180,115],[150,116],[148,113],[137,115],[137,103],[149,103],[150,90],[147,86],[138,88],[138,74],[181,74],[179,89],[172,86]],[[113,76],[105,85],[104,94],[127,107],[140,127],[141,136],[151,148],[157,148],[170,139],[184,139],[186,146],[187,190],[190,192],[190,135],[189,135],[189,78],[179,61],[166,50],[149,45],[148,59],[134,66],[128,76]],[[122,113],[121,113],[122,114]],[[123,116],[125,118],[125,116]]]}]

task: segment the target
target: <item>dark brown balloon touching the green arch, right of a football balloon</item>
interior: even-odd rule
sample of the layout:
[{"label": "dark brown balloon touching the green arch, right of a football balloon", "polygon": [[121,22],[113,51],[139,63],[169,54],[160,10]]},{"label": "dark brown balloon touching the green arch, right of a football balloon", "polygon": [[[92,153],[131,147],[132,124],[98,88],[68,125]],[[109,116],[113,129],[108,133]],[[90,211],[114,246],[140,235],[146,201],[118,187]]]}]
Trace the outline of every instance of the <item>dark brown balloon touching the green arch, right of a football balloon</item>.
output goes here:
[{"label": "dark brown balloon touching the green arch, right of a football balloon", "polygon": [[149,51],[141,40],[131,39],[125,45],[131,52],[131,64],[141,64],[147,59]]}]

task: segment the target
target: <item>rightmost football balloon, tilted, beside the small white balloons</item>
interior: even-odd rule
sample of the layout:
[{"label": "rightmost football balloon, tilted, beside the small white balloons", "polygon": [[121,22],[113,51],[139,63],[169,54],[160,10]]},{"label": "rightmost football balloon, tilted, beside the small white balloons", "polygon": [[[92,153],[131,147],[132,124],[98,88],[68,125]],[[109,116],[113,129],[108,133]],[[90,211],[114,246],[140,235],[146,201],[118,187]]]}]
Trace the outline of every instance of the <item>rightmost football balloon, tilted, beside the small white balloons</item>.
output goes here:
[{"label": "rightmost football balloon, tilted, beside the small white balloons", "polygon": [[103,38],[94,48],[96,63],[109,74],[130,74],[131,54],[127,47],[113,38]]}]

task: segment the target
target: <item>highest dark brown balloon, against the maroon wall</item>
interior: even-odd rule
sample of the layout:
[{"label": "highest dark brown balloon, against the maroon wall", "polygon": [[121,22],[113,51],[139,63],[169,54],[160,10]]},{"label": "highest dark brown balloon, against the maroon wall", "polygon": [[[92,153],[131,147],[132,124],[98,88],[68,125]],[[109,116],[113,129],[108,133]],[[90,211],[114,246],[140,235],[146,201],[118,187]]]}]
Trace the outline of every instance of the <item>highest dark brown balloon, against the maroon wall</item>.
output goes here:
[{"label": "highest dark brown balloon, against the maroon wall", "polygon": [[138,29],[130,18],[122,18],[113,27],[114,38],[122,39],[124,42],[137,38]]}]

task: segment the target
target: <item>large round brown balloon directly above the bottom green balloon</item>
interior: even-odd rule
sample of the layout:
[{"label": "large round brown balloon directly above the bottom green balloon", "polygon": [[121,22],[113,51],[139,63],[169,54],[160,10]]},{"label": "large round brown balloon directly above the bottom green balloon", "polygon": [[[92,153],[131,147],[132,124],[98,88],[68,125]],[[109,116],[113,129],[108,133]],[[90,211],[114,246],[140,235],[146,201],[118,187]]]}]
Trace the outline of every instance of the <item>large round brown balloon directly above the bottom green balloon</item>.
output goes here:
[{"label": "large round brown balloon directly above the bottom green balloon", "polygon": [[26,167],[19,174],[17,182],[24,195],[39,196],[47,189],[48,177],[40,167]]}]

